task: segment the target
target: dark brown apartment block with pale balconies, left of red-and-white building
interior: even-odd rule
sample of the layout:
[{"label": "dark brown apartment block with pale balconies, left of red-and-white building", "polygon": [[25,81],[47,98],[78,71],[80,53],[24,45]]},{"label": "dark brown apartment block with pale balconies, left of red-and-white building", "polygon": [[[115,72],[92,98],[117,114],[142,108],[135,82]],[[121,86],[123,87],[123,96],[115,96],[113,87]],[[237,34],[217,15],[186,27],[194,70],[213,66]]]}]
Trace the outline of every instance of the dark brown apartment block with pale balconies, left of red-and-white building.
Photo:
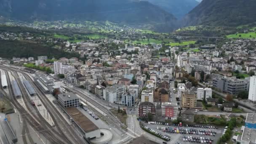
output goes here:
[{"label": "dark brown apartment block with pale balconies, left of red-and-white building", "polygon": [[148,113],[155,115],[156,104],[151,102],[139,102],[139,117],[147,117]]}]

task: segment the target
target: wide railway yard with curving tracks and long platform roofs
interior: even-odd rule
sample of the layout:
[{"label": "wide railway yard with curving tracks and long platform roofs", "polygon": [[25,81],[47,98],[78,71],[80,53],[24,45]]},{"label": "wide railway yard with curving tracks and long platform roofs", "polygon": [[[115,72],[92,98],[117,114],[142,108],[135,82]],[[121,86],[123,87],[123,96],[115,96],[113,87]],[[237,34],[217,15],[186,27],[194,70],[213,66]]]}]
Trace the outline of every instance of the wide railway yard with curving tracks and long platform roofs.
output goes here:
[{"label": "wide railway yard with curving tracks and long platform roofs", "polygon": [[[6,65],[0,65],[0,75],[0,93],[11,102],[15,111],[2,116],[5,119],[1,125],[8,122],[9,131],[15,131],[13,135],[19,144],[121,144],[138,137],[128,133],[127,126],[112,114],[111,108],[93,99],[91,93],[55,82],[64,93],[72,92],[80,99],[83,108],[77,107],[75,112],[85,119],[81,121],[77,118],[78,113],[61,107],[56,97],[50,94],[50,88],[43,85],[37,75]],[[91,128],[88,123],[97,128]],[[94,130],[99,136],[96,134],[88,141]],[[13,139],[4,136],[0,142],[13,144]]]}]

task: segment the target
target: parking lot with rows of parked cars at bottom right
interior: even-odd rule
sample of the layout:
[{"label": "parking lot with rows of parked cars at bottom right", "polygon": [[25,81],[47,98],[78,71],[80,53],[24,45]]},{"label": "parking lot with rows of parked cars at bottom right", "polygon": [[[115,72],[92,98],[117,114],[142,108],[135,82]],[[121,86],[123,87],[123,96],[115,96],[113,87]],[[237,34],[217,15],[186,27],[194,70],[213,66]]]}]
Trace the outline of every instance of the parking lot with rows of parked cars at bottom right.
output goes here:
[{"label": "parking lot with rows of parked cars at bottom right", "polygon": [[[189,143],[200,143],[200,144],[216,144],[219,140],[221,134],[224,131],[224,128],[213,128],[210,125],[188,125],[182,127],[176,125],[159,125],[159,124],[147,124],[148,128],[151,128],[158,133],[161,133],[165,136],[171,138],[171,144],[189,144]],[[195,127],[193,127],[195,126]],[[208,128],[207,128],[208,126]],[[165,130],[164,130],[165,129]],[[167,132],[166,132],[167,130]],[[176,131],[176,133],[175,133]],[[178,132],[178,133],[177,133]],[[215,136],[214,136],[215,135]],[[187,137],[186,137],[187,136]],[[195,140],[195,141],[194,141]]]}]

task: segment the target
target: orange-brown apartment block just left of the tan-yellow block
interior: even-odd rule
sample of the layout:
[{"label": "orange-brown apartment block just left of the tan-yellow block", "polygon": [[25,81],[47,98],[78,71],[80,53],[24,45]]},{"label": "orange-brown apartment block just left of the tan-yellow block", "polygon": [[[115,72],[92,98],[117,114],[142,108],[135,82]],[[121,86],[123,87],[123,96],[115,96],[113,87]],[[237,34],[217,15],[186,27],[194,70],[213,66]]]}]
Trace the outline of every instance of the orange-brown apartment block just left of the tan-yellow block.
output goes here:
[{"label": "orange-brown apartment block just left of the tan-yellow block", "polygon": [[154,91],[154,101],[157,101],[157,102],[169,101],[169,90],[166,88],[156,88]]}]

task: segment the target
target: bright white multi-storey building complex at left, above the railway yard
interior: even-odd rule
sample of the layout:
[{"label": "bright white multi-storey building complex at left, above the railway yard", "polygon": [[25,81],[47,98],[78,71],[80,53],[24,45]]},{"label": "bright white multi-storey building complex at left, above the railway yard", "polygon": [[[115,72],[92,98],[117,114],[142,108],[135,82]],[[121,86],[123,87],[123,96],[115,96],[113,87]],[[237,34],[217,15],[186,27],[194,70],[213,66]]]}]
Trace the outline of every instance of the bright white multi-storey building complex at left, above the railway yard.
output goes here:
[{"label": "bright white multi-storey building complex at left, above the railway yard", "polygon": [[59,61],[54,61],[54,74],[65,74],[67,72],[74,73],[75,72],[75,67],[74,66],[69,66],[69,65],[64,65],[62,62]]}]

